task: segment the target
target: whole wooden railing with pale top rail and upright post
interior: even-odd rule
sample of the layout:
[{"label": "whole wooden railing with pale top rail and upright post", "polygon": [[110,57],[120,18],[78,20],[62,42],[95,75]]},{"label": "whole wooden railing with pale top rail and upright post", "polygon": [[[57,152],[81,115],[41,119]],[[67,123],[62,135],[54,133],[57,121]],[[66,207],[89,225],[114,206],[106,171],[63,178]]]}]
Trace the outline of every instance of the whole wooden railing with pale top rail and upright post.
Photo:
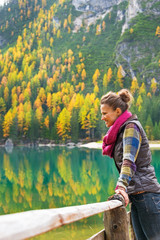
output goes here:
[{"label": "whole wooden railing with pale top rail and upright post", "polygon": [[[0,216],[0,240],[22,240],[104,212],[105,229],[90,240],[129,240],[129,218],[119,200]],[[130,234],[131,235],[131,234]]]}]

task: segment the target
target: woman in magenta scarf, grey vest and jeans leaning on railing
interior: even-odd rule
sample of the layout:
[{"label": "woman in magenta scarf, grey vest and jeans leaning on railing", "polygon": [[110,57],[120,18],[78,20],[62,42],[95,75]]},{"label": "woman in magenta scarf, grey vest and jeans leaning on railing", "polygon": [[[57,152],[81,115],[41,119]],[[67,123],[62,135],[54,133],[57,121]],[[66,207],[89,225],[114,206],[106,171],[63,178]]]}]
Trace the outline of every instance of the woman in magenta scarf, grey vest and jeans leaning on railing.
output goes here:
[{"label": "woman in magenta scarf, grey vest and jeans leaning on railing", "polygon": [[104,155],[114,159],[119,171],[115,192],[131,205],[138,240],[160,240],[160,184],[151,163],[148,139],[136,115],[128,109],[132,95],[127,89],[101,98],[102,120],[110,127],[103,139]]}]

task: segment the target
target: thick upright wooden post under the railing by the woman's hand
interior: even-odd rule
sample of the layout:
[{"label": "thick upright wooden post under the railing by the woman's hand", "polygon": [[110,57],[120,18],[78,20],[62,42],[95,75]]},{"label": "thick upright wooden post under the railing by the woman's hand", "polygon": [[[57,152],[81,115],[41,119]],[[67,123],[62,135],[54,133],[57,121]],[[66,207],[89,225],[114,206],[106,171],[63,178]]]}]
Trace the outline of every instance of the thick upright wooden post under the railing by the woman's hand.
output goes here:
[{"label": "thick upright wooden post under the railing by the woman's hand", "polygon": [[129,224],[125,207],[104,212],[106,240],[129,240]]}]

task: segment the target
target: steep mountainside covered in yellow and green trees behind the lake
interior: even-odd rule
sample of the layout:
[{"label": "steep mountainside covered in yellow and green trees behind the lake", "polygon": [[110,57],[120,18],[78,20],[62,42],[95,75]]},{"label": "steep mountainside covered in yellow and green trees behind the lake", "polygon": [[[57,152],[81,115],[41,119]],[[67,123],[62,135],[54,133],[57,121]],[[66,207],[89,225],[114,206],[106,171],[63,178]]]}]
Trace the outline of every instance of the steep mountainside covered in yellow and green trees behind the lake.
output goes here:
[{"label": "steep mountainside covered in yellow and green trees behind the lake", "polygon": [[14,0],[0,14],[1,139],[101,139],[100,97],[122,87],[160,139],[158,1]]}]

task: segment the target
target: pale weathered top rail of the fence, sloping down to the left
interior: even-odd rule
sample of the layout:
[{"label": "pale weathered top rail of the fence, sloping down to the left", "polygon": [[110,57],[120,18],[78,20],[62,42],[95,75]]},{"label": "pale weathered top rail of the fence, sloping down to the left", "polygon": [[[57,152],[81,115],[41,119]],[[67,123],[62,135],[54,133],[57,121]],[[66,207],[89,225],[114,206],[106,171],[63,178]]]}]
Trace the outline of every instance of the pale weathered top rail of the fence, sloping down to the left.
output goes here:
[{"label": "pale weathered top rail of the fence, sloping down to the left", "polygon": [[0,216],[0,240],[22,240],[122,206],[118,200]]}]

